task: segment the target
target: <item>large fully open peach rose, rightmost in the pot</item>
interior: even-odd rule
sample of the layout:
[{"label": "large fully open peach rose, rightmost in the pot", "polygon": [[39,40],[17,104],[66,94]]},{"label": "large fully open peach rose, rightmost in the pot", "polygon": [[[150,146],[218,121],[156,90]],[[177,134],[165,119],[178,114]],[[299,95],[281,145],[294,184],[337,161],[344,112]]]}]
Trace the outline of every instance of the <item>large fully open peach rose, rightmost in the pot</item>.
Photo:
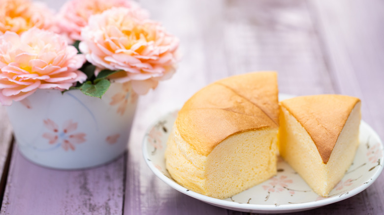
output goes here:
[{"label": "large fully open peach rose, rightmost in the pot", "polygon": [[145,94],[169,79],[178,61],[179,40],[159,23],[142,20],[127,8],[112,8],[91,16],[81,31],[80,50],[99,69],[123,70],[111,77],[132,82]]}]

